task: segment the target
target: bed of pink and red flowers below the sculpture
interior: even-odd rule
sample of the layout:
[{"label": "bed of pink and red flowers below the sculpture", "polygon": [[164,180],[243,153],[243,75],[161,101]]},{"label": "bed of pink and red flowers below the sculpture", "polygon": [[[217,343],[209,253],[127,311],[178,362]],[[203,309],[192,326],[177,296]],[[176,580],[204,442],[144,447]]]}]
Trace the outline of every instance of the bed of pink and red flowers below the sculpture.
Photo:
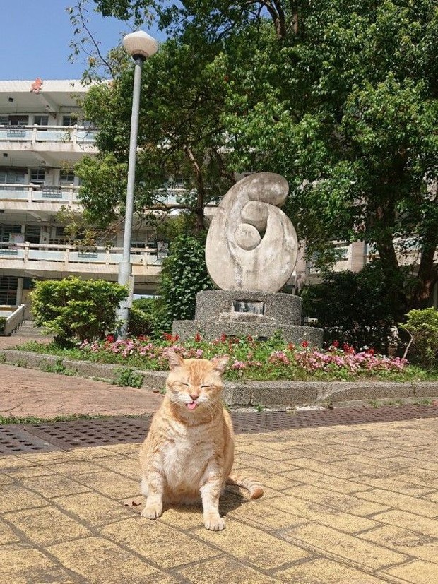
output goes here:
[{"label": "bed of pink and red flowers below the sculpture", "polygon": [[167,347],[173,347],[184,359],[210,359],[215,355],[228,354],[230,362],[225,379],[230,380],[410,381],[425,379],[426,376],[425,371],[410,366],[406,359],[375,354],[372,349],[356,351],[348,345],[340,347],[333,342],[331,347],[321,350],[311,347],[307,341],[295,346],[276,335],[267,341],[250,336],[235,338],[225,335],[206,341],[197,334],[193,340],[184,342],[172,335],[164,335],[162,340],[144,337],[115,340],[109,335],[102,341],[85,341],[69,352],[53,344],[45,345],[44,349],[39,347],[40,344],[34,342],[21,348],[155,371],[168,369]]}]

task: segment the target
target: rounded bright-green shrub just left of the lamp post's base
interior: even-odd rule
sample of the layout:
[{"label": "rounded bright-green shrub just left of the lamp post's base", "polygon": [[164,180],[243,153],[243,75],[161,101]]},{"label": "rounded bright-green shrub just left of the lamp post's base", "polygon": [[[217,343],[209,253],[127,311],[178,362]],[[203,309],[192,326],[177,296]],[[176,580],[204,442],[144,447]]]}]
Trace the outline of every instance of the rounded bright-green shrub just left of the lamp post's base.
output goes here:
[{"label": "rounded bright-green shrub just left of the lamp post's base", "polygon": [[60,344],[100,339],[114,331],[117,306],[127,294],[126,287],[105,280],[45,280],[31,293],[32,313]]}]

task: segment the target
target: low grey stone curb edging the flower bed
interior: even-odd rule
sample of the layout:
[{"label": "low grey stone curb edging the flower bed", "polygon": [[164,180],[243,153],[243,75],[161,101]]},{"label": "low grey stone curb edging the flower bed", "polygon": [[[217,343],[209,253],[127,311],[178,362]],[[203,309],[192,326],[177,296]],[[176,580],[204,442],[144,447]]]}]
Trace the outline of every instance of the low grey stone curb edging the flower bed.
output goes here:
[{"label": "low grey stone curb edging the flower bed", "polygon": [[[6,349],[0,351],[0,362],[93,377],[115,383],[122,369],[131,369],[142,377],[141,387],[160,391],[165,387],[167,371],[143,371],[123,365],[92,363],[62,359],[57,355]],[[396,383],[389,381],[226,381],[224,401],[227,405],[306,405],[337,403],[351,400],[386,398],[430,398],[438,396],[438,381]]]}]

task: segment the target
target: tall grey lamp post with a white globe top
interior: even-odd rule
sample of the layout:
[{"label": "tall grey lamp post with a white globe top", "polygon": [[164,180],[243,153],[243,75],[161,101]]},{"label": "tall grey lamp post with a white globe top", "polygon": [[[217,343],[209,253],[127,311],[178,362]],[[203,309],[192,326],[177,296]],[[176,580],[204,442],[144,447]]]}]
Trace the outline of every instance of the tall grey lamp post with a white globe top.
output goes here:
[{"label": "tall grey lamp post with a white globe top", "polygon": [[138,134],[138,112],[140,109],[140,89],[141,89],[141,68],[143,61],[148,59],[158,50],[158,43],[150,35],[142,30],[131,32],[123,40],[124,47],[132,56],[135,62],[134,67],[134,88],[132,90],[132,111],[131,111],[131,136],[129,138],[129,160],[128,160],[128,185],[126,188],[126,210],[124,220],[123,254],[119,263],[119,284],[129,286],[129,297],[123,300],[117,309],[118,338],[126,338],[128,330],[129,306],[131,306],[131,293],[134,282],[131,280],[131,231],[132,217],[134,213],[134,183],[136,178],[136,151]]}]

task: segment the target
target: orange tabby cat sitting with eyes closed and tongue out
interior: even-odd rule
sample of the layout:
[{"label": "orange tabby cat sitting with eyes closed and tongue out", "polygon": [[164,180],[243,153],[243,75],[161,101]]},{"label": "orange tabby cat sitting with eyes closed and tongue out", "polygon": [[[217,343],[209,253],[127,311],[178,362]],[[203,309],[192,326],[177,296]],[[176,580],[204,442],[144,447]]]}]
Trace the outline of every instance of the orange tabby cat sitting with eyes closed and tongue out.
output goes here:
[{"label": "orange tabby cat sitting with eyes closed and tongue out", "polygon": [[155,519],[163,503],[190,504],[201,498],[206,528],[223,530],[219,497],[225,483],[247,488],[251,499],[263,494],[258,482],[229,476],[234,434],[220,400],[228,357],[182,359],[172,349],[167,357],[165,399],[140,451],[141,489],[148,498],[141,514]]}]

